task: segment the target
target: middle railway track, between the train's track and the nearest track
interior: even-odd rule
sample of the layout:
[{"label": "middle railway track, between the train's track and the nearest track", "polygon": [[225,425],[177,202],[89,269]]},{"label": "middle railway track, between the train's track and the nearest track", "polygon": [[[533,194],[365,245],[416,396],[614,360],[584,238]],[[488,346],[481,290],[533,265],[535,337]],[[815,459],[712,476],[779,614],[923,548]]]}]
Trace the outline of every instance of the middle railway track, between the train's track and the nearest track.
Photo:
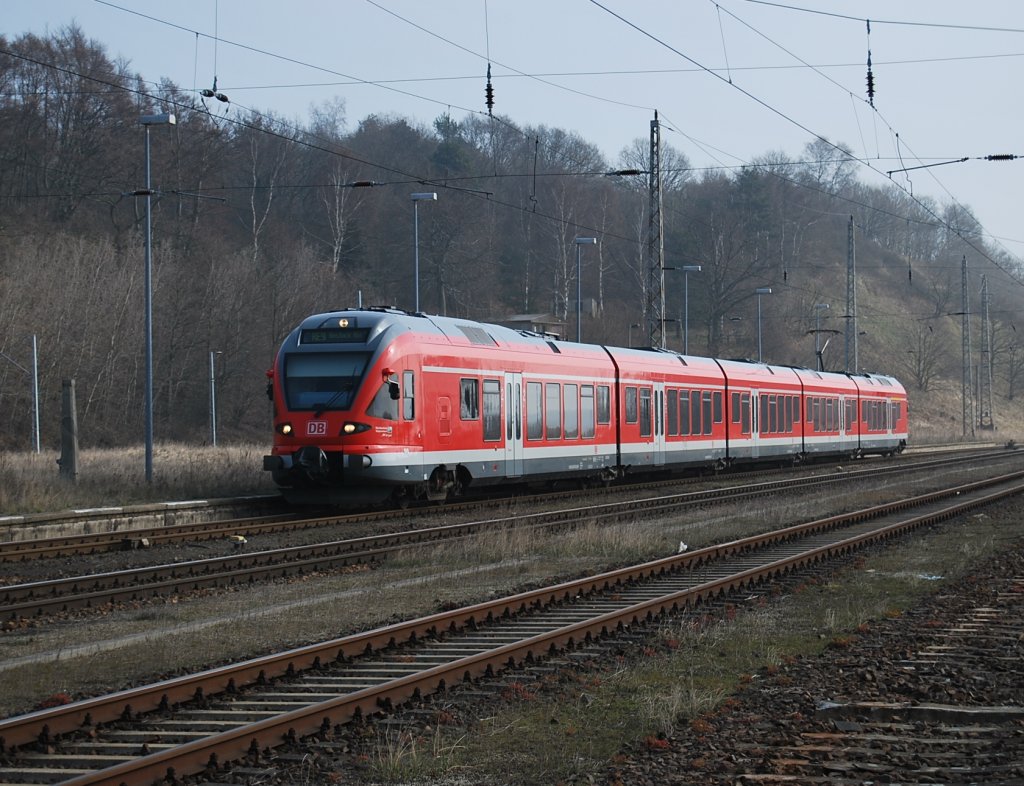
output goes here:
[{"label": "middle railway track, between the train's track and the nearest track", "polygon": [[[1018,457],[1016,454],[1006,451],[996,454],[997,461],[1010,462]],[[699,507],[711,501],[735,501],[744,497],[761,496],[777,491],[794,491],[854,480],[869,480],[896,472],[904,474],[911,471],[934,471],[948,466],[951,461],[953,460],[944,458],[910,466],[879,464],[842,474],[829,473],[802,478],[781,478],[705,491],[658,495],[644,499],[606,503],[600,506],[573,507],[538,514],[450,524],[402,532],[388,532],[331,542],[239,553],[203,560],[9,584],[0,586],[0,623],[12,624],[22,619],[100,608],[115,603],[183,595],[210,587],[308,575],[353,564],[373,564],[402,549],[444,539],[468,537],[486,531],[496,531],[503,527],[560,527],[573,526],[596,519],[614,521],[633,516],[641,510],[646,514],[666,513],[682,508]],[[961,456],[955,460],[955,463],[957,466],[962,466],[965,461]],[[984,456],[980,461],[991,463],[993,458]],[[268,525],[276,527],[279,523],[273,521],[268,522]],[[307,522],[300,522],[300,524],[312,526]],[[262,523],[257,523],[257,528],[260,526]],[[191,526],[187,529],[191,530]],[[220,537],[224,537],[225,533],[238,531],[239,527],[231,524],[217,528]],[[246,532],[251,534],[248,530]]]}]

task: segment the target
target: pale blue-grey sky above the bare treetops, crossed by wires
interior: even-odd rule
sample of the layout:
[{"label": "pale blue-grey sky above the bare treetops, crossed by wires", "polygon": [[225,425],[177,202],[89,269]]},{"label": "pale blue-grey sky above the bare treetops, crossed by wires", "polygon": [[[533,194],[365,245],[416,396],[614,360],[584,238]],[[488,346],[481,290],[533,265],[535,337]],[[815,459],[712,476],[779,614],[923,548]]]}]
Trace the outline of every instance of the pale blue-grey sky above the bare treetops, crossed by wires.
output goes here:
[{"label": "pale blue-grey sky above the bare treetops, crossed by wires", "polygon": [[[77,23],[146,80],[305,121],[340,98],[429,126],[495,113],[578,133],[614,165],[649,137],[695,167],[800,156],[822,136],[918,196],[970,207],[1024,257],[1020,0],[2,0],[0,32]],[[870,19],[870,33],[866,19]],[[870,49],[876,94],[867,102]],[[223,104],[213,102],[217,112]]]}]

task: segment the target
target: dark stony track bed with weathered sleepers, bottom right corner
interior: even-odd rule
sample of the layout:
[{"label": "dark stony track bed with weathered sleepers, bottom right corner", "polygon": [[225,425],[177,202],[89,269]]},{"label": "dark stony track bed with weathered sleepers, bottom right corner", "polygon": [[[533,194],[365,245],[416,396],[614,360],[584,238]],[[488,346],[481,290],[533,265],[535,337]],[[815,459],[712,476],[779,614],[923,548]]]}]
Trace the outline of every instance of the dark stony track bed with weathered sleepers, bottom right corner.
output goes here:
[{"label": "dark stony track bed with weathered sleepers, bottom right corner", "polygon": [[1024,554],[1004,553],[855,641],[762,670],[609,783],[1021,783],[1022,600]]}]

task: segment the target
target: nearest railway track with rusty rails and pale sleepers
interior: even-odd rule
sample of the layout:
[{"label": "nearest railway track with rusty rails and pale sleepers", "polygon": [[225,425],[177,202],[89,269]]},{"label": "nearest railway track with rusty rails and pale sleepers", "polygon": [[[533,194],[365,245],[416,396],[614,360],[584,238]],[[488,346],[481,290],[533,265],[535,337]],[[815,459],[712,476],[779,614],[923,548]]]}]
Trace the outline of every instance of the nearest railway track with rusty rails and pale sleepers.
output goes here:
[{"label": "nearest railway track with rusty rails and pale sleepers", "polygon": [[353,717],[749,593],[1022,491],[1024,473],[1013,473],[0,720],[0,781],[215,781]]}]

